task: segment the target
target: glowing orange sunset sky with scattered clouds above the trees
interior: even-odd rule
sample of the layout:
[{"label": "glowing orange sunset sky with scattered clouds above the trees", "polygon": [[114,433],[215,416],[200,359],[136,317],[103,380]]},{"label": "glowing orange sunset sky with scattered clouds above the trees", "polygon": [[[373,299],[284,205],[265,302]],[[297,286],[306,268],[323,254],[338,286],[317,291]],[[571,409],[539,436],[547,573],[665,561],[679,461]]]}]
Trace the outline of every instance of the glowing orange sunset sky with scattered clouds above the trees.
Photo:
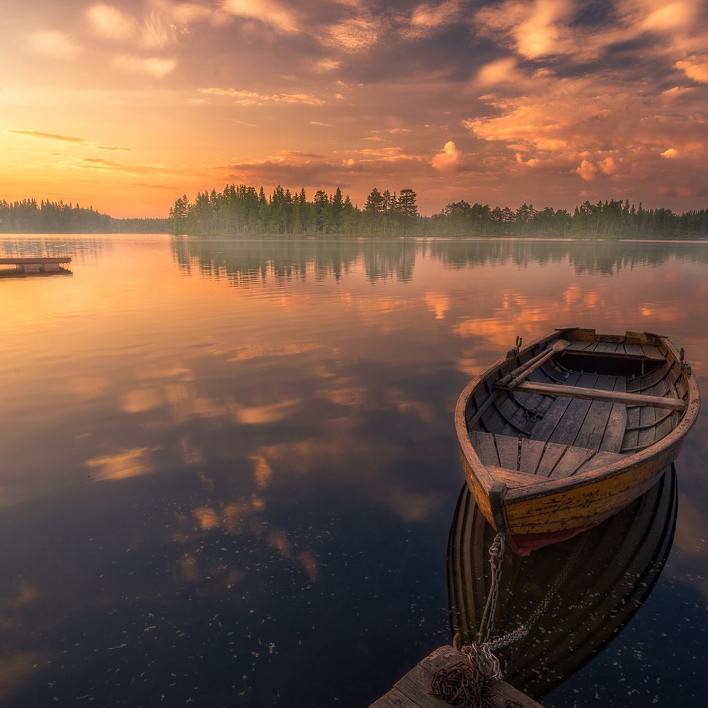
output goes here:
[{"label": "glowing orange sunset sky with scattered clouds above the trees", "polygon": [[23,0],[0,199],[165,217],[186,193],[708,207],[704,0]]}]

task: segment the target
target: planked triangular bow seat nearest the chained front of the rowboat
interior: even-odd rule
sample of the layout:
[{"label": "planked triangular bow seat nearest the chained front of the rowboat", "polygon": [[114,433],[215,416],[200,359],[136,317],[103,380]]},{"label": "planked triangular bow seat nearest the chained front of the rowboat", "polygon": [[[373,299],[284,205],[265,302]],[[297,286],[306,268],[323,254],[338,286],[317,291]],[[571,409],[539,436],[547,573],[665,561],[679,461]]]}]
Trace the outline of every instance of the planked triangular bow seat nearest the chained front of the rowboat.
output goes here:
[{"label": "planked triangular bow seat nearest the chained front of the rowboat", "polygon": [[513,438],[481,430],[469,433],[469,441],[485,467],[500,467],[540,478],[569,477],[625,457],[616,452],[598,452],[590,447]]}]

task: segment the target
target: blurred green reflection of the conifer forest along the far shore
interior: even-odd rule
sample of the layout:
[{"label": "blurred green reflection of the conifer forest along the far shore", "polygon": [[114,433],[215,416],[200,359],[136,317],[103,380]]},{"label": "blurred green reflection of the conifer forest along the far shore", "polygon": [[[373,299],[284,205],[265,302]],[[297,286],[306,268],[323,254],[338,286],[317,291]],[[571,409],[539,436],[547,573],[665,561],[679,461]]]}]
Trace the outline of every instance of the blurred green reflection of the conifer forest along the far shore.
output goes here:
[{"label": "blurred green reflection of the conifer forest along the far shore", "polygon": [[704,243],[656,241],[543,241],[523,239],[254,239],[222,240],[175,237],[173,257],[183,273],[196,271],[207,278],[247,287],[266,278],[276,281],[339,280],[362,261],[367,278],[406,282],[416,260],[430,258],[455,270],[510,263],[530,265],[569,263],[576,275],[616,275],[637,266],[664,265],[672,259],[708,263]]}]

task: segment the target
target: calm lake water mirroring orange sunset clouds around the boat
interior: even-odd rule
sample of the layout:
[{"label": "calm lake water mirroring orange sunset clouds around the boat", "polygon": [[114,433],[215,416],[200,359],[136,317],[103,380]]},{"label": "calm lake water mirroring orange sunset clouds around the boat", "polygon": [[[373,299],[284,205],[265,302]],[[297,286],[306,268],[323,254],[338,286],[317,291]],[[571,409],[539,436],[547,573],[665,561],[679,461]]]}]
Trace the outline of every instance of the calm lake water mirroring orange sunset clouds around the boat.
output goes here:
[{"label": "calm lake water mirroring orange sunset clouds around the boat", "polygon": [[[472,375],[646,329],[708,393],[708,245],[0,236],[35,253],[74,262],[0,279],[8,706],[365,707],[450,641]],[[707,704],[707,416],[656,587],[545,705]]]}]

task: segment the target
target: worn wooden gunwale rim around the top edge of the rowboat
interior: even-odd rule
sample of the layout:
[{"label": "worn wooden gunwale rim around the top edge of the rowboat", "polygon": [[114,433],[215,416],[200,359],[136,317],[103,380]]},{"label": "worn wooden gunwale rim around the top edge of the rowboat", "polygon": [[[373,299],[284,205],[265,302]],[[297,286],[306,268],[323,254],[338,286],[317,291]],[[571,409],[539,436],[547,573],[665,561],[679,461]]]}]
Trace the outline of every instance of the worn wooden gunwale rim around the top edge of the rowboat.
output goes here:
[{"label": "worn wooden gunwale rim around the top edge of the rowboat", "polygon": [[[530,353],[530,351],[539,344],[549,343],[573,329],[577,328],[558,329],[554,331],[554,333],[544,335],[521,349],[519,351],[519,355],[523,353]],[[661,342],[666,346],[667,351],[665,360],[667,360],[670,365],[673,366],[675,363],[680,362],[680,355],[678,351],[666,336],[651,336],[656,336],[656,338],[661,340]],[[494,479],[493,474],[491,474],[491,472],[489,472],[486,468],[484,463],[481,462],[479,455],[477,455],[476,450],[474,450],[472,442],[469,440],[469,430],[467,430],[465,410],[467,409],[467,403],[476,387],[486,381],[486,379],[489,379],[493,372],[501,368],[501,366],[509,358],[510,357],[508,355],[504,356],[494,362],[491,366],[487,367],[484,372],[481,372],[481,374],[474,377],[474,379],[472,379],[462,390],[462,393],[457,399],[457,406],[455,406],[455,430],[457,432],[457,441],[459,443],[460,454],[464,455],[464,458],[469,465],[469,469],[476,480],[484,486],[485,493],[489,492],[489,488],[496,480]],[[653,445],[644,448],[644,450],[639,450],[638,452],[634,452],[632,455],[627,455],[624,459],[617,460],[617,462],[596,467],[595,469],[589,469],[586,472],[580,472],[579,474],[574,474],[569,477],[541,477],[539,478],[537,484],[509,488],[504,496],[505,506],[510,506],[515,502],[530,501],[535,498],[547,496],[549,493],[571,491],[600,479],[603,481],[612,479],[615,476],[628,472],[629,469],[640,467],[645,463],[651,462],[651,459],[660,456],[662,452],[666,452],[671,447],[678,447],[678,445],[682,442],[682,438],[693,427],[700,411],[700,392],[698,389],[697,379],[690,370],[686,371],[684,369],[683,375],[685,376],[688,385],[687,396],[685,398],[685,413],[683,414],[683,417],[679,421],[678,425],[673,428],[670,433],[661,438],[661,440],[658,440],[653,443]],[[512,472],[514,472],[514,470],[512,470]]]}]

